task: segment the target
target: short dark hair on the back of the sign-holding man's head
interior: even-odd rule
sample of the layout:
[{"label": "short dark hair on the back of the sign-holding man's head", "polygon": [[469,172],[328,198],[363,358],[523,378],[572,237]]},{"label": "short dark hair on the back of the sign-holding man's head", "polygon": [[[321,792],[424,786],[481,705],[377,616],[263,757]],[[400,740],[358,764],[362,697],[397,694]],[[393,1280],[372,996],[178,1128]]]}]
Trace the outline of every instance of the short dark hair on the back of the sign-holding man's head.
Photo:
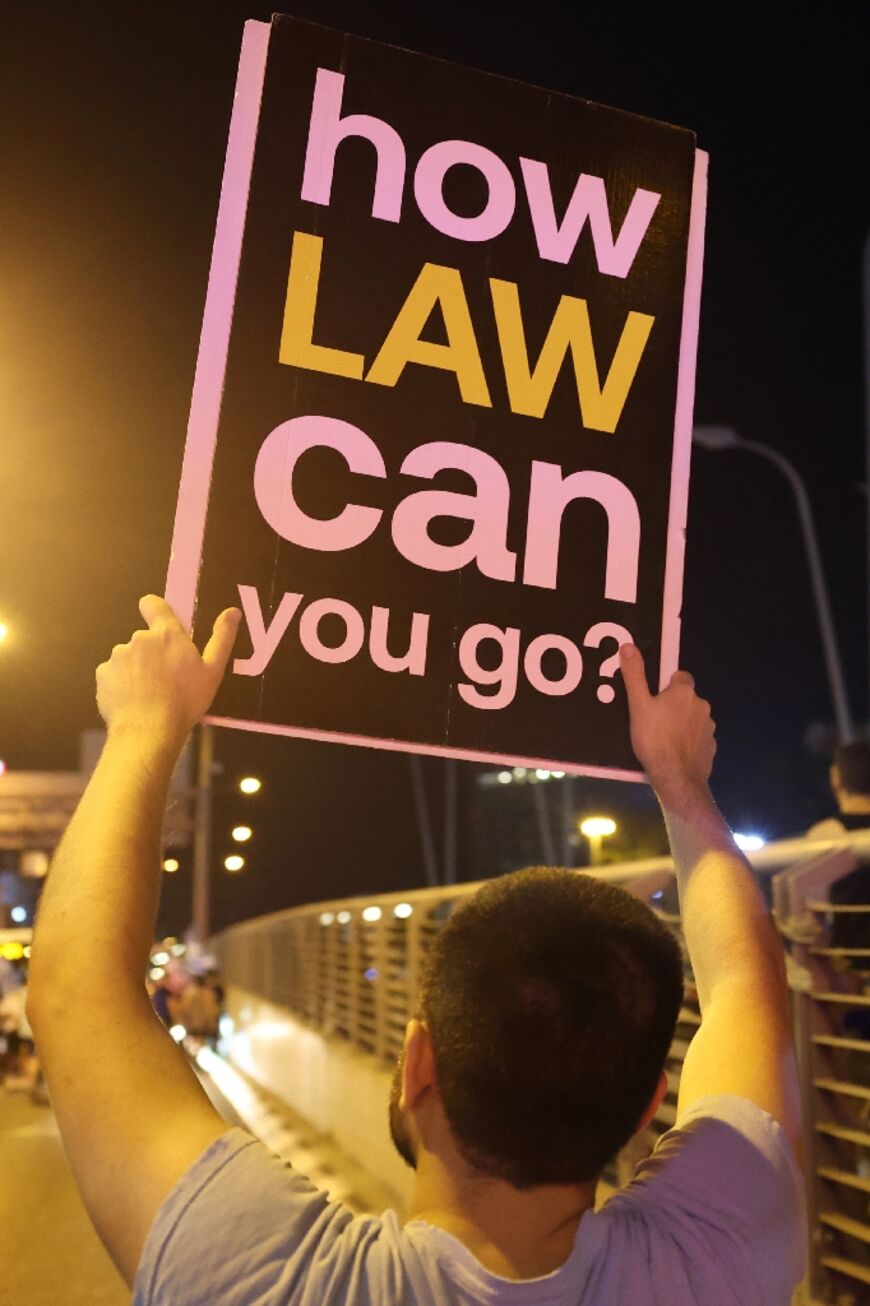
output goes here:
[{"label": "short dark hair on the back of the sign-holding man's head", "polygon": [[683,995],[679,944],[626,889],[530,867],[436,935],[419,1012],[457,1147],[517,1188],[594,1179],[636,1131]]}]

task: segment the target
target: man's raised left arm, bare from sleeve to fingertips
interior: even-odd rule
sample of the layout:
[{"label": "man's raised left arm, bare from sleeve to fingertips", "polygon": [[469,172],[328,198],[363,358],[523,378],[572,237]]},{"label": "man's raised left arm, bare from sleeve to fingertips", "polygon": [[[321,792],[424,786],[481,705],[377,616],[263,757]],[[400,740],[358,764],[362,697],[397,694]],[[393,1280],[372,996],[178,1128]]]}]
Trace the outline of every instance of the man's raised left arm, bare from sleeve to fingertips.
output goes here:
[{"label": "man's raised left arm, bare from sleeve to fingertips", "polygon": [[107,739],[54,858],[33,942],[27,1013],[88,1212],[132,1282],[163,1199],[227,1128],[154,1015],[161,827],[170,777],[206,712],[239,614],[200,657],[169,605],[97,669]]}]

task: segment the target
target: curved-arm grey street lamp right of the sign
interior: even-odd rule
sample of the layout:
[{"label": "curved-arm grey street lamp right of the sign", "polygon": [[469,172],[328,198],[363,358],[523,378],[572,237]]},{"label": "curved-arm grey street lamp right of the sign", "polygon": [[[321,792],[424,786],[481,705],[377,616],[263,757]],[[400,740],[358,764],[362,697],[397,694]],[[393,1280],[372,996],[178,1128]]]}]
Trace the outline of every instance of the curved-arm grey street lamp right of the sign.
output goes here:
[{"label": "curved-arm grey street lamp right of the sign", "polygon": [[692,440],[695,444],[700,444],[704,449],[746,449],[749,453],[758,453],[759,457],[767,458],[768,462],[772,462],[773,466],[779,468],[792,487],[792,492],[794,494],[794,500],[797,503],[801,530],[803,533],[806,558],[810,567],[813,598],[815,601],[815,613],[819,622],[819,632],[822,635],[824,665],[831,684],[831,697],[833,700],[833,714],[837,722],[837,735],[841,743],[848,743],[854,737],[852,713],[849,712],[849,700],[846,696],[845,680],[843,678],[840,649],[833,631],[831,601],[828,598],[828,588],[824,580],[824,568],[822,567],[819,541],[815,533],[810,499],[803,481],[793,464],[789,462],[789,460],[781,453],[777,453],[776,449],[771,449],[767,444],[760,444],[758,440],[745,440],[743,436],[738,435],[738,432],[730,426],[696,426],[692,431]]}]

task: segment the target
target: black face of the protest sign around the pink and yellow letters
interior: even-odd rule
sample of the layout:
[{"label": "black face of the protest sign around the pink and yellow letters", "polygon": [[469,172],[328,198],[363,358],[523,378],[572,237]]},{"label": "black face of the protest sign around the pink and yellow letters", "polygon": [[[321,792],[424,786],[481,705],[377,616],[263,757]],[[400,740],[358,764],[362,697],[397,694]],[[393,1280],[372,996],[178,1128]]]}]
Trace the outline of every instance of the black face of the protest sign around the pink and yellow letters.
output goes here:
[{"label": "black face of the protest sign around the pink and yellow letters", "polygon": [[[349,138],[337,150],[328,206],[300,200],[316,69],[344,73],[342,116],[370,114],[389,123],[408,153],[401,222],[371,217],[375,150]],[[509,167],[517,191],[507,230],[486,243],[451,239],[434,230],[414,201],[413,170],[442,140],[474,141]],[[517,159],[542,159],[550,170],[555,212],[564,212],[580,172],[605,179],[614,230],[637,187],[661,201],[624,279],[596,265],[588,226],[567,265],[538,256]],[[273,20],[247,226],[239,269],[223,402],[213,466],[195,633],[205,633],[219,609],[239,602],[238,585],[256,586],[266,624],[285,590],[304,602],[332,597],[354,605],[366,624],[372,605],[391,610],[391,646],[408,646],[413,611],[431,615],[423,678],[389,674],[367,649],[328,665],[300,646],[298,615],[260,677],[227,675],[214,718],[402,741],[504,757],[562,761],[572,769],[636,769],[619,678],[617,696],[596,696],[598,666],[613,640],[584,649],[584,675],[568,696],[545,696],[523,675],[513,703],[481,710],[462,701],[461,633],[478,622],[519,627],[521,648],[538,635],[568,636],[577,645],[596,622],[624,626],[643,648],[652,684],[658,678],[662,588],[668,543],[677,362],[686,277],[695,140],[690,132],[602,108],[566,95],[408,54],[298,20]],[[466,167],[447,176],[445,200],[457,213],[483,208],[483,182]],[[363,354],[379,350],[423,263],[461,272],[492,407],[464,404],[451,372],[409,364],[393,388],[304,371],[278,362],[294,231],[321,236],[323,269],[315,319],[316,343]],[[573,371],[567,359],[542,419],[511,413],[487,278],[519,285],[532,360],[537,359],[563,294],[588,302],[600,375],[606,375],[631,310],[654,325],[613,435],[584,430]],[[423,333],[444,341],[435,312]],[[342,552],[298,547],[268,526],[253,496],[253,468],[263,440],[280,423],[323,414],[361,427],[378,445],[387,479],[351,475],[332,451],[303,456],[294,477],[300,507],[336,516],[346,503],[383,508],[370,539]],[[398,475],[404,457],[430,440],[451,440],[491,454],[511,483],[508,547],[517,551],[517,580],[495,581],[474,564],[432,572],[402,558],[391,538],[395,505],[421,488],[469,494],[470,478],[439,473],[434,482]],[[568,505],[562,528],[555,590],[523,585],[523,549],[533,460],[564,474],[606,471],[637,502],[641,521],[637,602],[604,599],[606,516],[600,504]],[[434,538],[456,542],[468,525],[442,518]],[[304,605],[303,605],[304,606]],[[329,624],[321,629],[329,639]],[[334,632],[340,641],[341,629]],[[238,657],[247,657],[243,629]],[[483,658],[483,649],[481,650]],[[559,674],[558,656],[551,673]],[[495,662],[492,662],[495,665]],[[545,661],[545,670],[549,663]],[[483,691],[486,692],[486,690]]]}]

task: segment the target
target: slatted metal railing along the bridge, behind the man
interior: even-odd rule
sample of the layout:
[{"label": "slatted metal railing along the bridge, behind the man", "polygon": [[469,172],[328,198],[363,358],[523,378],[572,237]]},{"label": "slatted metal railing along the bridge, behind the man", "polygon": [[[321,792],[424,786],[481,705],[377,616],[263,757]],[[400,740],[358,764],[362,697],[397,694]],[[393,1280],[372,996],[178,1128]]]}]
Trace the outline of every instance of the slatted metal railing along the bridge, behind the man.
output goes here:
[{"label": "slatted metal railing along the bridge, behind the man", "polygon": [[[840,840],[768,844],[750,854],[789,953],[811,1221],[810,1298],[856,1306],[870,1301],[870,1038],[845,1037],[843,1021],[848,1011],[870,1010],[870,994],[863,993],[865,980],[870,987],[870,949],[852,949],[846,972],[844,955],[828,943],[837,916],[831,885],[858,859],[870,862],[870,829]],[[700,1013],[670,858],[588,874],[622,883],[645,901],[677,934],[686,965],[686,1000],[666,1063],[668,1096],[645,1134],[605,1173],[605,1183],[619,1187],[656,1136],[675,1122],[683,1058]],[[293,908],[233,926],[212,947],[227,986],[391,1064],[415,1013],[426,951],[453,908],[478,887],[451,884]],[[848,1057],[862,1059],[862,1066],[846,1064]]]}]

